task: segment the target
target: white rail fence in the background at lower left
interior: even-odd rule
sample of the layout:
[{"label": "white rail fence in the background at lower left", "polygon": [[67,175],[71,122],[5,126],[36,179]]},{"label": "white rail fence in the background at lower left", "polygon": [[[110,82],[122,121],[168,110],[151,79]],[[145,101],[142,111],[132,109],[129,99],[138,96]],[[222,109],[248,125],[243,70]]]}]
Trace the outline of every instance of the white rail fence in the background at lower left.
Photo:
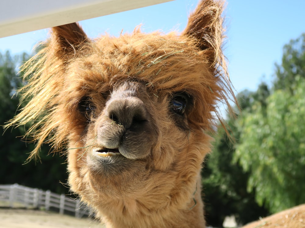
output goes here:
[{"label": "white rail fence in the background at lower left", "polygon": [[43,191],[38,188],[29,188],[22,185],[0,185],[0,202],[9,207],[55,208],[60,214],[72,212],[75,217],[92,216],[93,213],[79,199],[72,199],[64,194],[59,195],[50,190]]}]

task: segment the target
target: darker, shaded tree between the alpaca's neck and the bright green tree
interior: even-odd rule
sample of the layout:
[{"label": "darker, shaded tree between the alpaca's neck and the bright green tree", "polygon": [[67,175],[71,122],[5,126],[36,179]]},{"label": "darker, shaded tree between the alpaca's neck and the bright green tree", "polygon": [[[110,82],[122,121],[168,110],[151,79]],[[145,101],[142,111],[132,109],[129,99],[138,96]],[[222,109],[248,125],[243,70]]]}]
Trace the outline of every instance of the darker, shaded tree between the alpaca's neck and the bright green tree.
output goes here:
[{"label": "darker, shaded tree between the alpaca's neck and the bright green tree", "polygon": [[[238,96],[240,108],[250,110],[252,103],[265,94],[259,92],[241,92]],[[237,107],[235,109],[239,112]],[[243,171],[241,165],[233,162],[240,134],[236,127],[237,120],[238,118],[227,120],[231,139],[219,126],[213,151],[207,156],[202,171],[206,220],[208,225],[215,227],[222,226],[225,216],[235,215],[239,223],[245,224],[268,214],[264,206],[259,206],[255,201],[255,191],[247,191],[249,171]]]}]

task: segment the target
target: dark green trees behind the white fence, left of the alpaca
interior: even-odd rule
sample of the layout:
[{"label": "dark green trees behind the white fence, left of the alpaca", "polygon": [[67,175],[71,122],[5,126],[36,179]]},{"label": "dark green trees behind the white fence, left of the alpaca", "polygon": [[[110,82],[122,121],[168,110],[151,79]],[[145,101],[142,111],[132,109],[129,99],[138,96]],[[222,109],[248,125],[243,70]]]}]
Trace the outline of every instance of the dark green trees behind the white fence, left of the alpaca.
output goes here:
[{"label": "dark green trees behind the white fence, left of the alpaca", "polygon": [[[0,125],[12,119],[18,109],[20,95],[15,94],[16,89],[23,85],[17,73],[18,63],[25,61],[27,54],[12,57],[7,51],[0,53]],[[19,107],[22,108],[22,107]],[[25,161],[33,150],[32,143],[25,143],[22,137],[26,127],[8,129],[5,133],[0,128],[0,183],[18,183],[34,188],[50,189],[53,192],[68,193],[65,183],[67,179],[65,158],[58,154],[47,156],[49,147],[41,151],[41,163]]]}]

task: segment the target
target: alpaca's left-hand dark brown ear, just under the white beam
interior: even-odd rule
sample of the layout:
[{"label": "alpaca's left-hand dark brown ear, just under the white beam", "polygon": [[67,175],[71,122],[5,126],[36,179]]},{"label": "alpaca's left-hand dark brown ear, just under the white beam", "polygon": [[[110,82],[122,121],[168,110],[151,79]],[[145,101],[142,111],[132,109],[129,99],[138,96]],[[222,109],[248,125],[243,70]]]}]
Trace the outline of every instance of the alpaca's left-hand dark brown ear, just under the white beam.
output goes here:
[{"label": "alpaca's left-hand dark brown ear, just under the white beam", "polygon": [[66,63],[71,57],[76,57],[82,47],[88,43],[87,35],[77,23],[52,28],[50,48],[63,63]]}]

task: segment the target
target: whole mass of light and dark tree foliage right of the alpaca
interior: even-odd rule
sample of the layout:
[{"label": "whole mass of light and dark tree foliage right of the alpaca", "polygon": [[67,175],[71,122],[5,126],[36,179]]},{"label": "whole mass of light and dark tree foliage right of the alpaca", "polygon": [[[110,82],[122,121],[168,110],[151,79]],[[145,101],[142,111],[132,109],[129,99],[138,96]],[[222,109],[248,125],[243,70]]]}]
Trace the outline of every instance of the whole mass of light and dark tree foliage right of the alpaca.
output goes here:
[{"label": "whole mass of light and dark tree foliage right of the alpaca", "polygon": [[[218,131],[203,169],[207,223],[240,223],[305,202],[305,34],[283,48],[271,88],[242,91],[240,115]],[[237,109],[237,108],[236,108]]]}]

